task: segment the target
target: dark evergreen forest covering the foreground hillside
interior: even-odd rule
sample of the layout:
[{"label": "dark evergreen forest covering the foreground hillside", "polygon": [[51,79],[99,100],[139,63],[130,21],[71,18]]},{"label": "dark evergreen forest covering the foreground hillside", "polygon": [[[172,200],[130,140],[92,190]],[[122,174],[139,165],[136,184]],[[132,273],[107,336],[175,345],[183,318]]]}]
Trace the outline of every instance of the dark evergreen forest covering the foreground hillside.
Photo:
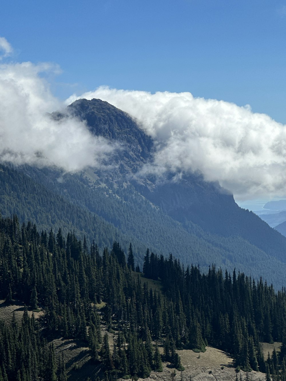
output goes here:
[{"label": "dark evergreen forest covering the foreground hillside", "polygon": [[[146,378],[162,361],[183,371],[177,350],[207,345],[228,352],[238,371],[286,380],[286,290],[235,269],[202,273],[149,249],[140,268],[132,243],[127,255],[117,241],[100,250],[85,235],[38,231],[14,215],[0,218],[0,285],[3,304],[28,307],[21,321],[0,320],[0,381],[67,380],[52,343],[60,336],[84,341],[105,380]],[[28,309],[43,313],[36,319]],[[279,354],[264,359],[263,341],[281,341]]]}]

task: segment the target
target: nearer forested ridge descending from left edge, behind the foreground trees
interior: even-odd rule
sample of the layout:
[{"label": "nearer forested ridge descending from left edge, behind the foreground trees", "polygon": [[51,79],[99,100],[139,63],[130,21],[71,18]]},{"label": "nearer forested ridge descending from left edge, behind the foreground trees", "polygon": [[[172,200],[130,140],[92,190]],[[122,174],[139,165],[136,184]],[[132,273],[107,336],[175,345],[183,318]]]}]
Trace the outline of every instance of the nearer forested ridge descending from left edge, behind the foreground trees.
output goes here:
[{"label": "nearer forested ridge descending from left edge, behind the foreground trees", "polygon": [[74,231],[79,237],[86,235],[88,242],[95,239],[100,247],[118,239],[130,242],[113,224],[7,165],[0,165],[0,205],[4,216],[17,214],[20,221],[32,221],[43,230]]}]

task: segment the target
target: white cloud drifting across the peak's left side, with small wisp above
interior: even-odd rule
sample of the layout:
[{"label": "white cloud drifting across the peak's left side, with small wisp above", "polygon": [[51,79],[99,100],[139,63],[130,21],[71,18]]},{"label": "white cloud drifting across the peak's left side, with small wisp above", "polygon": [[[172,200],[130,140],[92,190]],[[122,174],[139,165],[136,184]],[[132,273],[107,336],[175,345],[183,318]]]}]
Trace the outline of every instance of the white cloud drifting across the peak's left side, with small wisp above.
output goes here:
[{"label": "white cloud drifting across the peak's left side, with small wisp above", "polygon": [[[8,54],[11,50],[6,43],[0,38],[0,50]],[[112,152],[106,139],[92,136],[76,118],[56,121],[47,114],[63,105],[41,75],[57,71],[57,66],[48,63],[0,65],[1,161],[79,171],[101,166]]]}]

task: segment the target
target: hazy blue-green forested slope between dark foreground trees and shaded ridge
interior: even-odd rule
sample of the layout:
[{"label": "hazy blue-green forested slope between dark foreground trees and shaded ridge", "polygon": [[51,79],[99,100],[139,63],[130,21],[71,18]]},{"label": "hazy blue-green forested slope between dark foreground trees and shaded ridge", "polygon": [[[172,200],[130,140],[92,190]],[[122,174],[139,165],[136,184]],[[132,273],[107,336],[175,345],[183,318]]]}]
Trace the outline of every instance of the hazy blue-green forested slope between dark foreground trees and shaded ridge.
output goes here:
[{"label": "hazy blue-green forested slope between dark foreground trees and shaded ridge", "polygon": [[131,184],[112,187],[112,191],[102,184],[90,186],[77,175],[66,174],[65,181],[56,181],[61,175],[54,170],[26,166],[19,171],[2,165],[2,214],[16,212],[20,221],[30,219],[44,230],[73,230],[78,237],[86,235],[88,243],[95,239],[100,248],[119,240],[127,253],[132,241],[140,268],[149,247],[158,254],[172,252],[184,263],[199,264],[203,271],[212,263],[223,269],[235,266],[256,277],[268,276],[277,288],[284,284],[286,265],[239,236],[221,237],[193,223],[179,223],[154,207]]}]

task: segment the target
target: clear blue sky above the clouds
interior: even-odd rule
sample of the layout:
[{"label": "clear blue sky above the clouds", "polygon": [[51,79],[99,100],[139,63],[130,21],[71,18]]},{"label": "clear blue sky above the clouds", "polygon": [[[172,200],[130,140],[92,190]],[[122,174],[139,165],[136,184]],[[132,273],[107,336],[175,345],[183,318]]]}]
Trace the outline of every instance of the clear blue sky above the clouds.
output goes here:
[{"label": "clear blue sky above the clouds", "polygon": [[248,0],[6,2],[15,61],[55,62],[60,98],[100,85],[250,104],[286,123],[286,3]]}]

